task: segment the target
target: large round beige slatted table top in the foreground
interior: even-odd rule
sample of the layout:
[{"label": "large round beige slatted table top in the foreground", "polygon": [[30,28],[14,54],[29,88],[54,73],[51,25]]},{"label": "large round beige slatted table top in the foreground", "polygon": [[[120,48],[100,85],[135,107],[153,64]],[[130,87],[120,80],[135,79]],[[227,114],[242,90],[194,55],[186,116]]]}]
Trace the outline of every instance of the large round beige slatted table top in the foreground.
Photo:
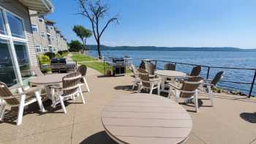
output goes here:
[{"label": "large round beige slatted table top in the foreground", "polygon": [[181,143],[192,130],[181,105],[151,94],[117,96],[102,110],[102,124],[119,143]]}]

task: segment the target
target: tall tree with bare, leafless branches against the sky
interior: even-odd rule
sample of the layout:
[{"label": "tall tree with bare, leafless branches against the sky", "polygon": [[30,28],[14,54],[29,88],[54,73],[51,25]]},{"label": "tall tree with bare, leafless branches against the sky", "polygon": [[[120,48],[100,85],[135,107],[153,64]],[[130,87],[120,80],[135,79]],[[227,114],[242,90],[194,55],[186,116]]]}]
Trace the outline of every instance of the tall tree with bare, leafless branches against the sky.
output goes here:
[{"label": "tall tree with bare, leafless branches against the sky", "polygon": [[[78,0],[78,7],[80,8],[78,14],[85,16],[91,22],[91,28],[97,42],[98,56],[102,58],[100,38],[110,23],[118,23],[117,15],[104,20],[108,15],[109,7],[108,4],[103,4],[101,0]],[[105,23],[102,23],[102,21],[105,21]],[[99,28],[100,26],[102,26],[102,29]]]}]

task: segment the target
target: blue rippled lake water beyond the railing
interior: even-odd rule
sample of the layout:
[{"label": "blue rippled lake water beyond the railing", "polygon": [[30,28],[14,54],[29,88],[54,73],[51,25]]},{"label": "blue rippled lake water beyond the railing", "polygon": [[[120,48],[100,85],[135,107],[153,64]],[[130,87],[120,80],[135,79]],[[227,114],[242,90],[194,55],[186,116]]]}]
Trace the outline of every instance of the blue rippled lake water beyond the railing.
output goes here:
[{"label": "blue rippled lake water beyond the railing", "polygon": [[[89,55],[97,57],[97,51],[89,51]],[[256,52],[225,52],[225,51],[149,51],[149,50],[102,50],[105,57],[123,57],[129,56],[134,58],[132,61],[135,66],[139,66],[143,58],[151,58],[163,61],[176,61],[189,64],[200,64],[210,67],[241,67],[256,69]],[[163,69],[163,62],[157,62],[157,69]],[[177,64],[176,70],[189,73],[192,66]],[[201,72],[202,77],[206,77],[206,68]],[[210,78],[214,77],[217,72],[224,71],[222,80],[252,83],[254,70],[244,69],[211,69]],[[249,93],[249,84],[236,84],[220,82],[219,86],[228,89],[238,89],[246,94]],[[256,94],[256,82],[253,94]]]}]

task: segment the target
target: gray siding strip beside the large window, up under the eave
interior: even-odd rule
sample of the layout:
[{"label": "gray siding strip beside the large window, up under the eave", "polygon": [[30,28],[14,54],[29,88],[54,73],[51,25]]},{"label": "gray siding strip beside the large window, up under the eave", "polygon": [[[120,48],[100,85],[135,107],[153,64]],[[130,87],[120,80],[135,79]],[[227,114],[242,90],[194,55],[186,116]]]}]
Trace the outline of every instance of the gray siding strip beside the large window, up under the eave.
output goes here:
[{"label": "gray siding strip beside the large window, up under the eave", "polygon": [[31,30],[31,21],[29,18],[28,8],[23,6],[23,4],[21,4],[18,0],[8,0],[6,2],[1,1],[0,6],[4,7],[4,9],[14,13],[15,15],[18,15],[20,18],[23,18],[26,39],[28,40],[27,45],[28,45],[29,58],[30,58],[31,64],[37,65],[38,64],[37,55],[34,48],[34,39],[33,39],[32,30]]}]

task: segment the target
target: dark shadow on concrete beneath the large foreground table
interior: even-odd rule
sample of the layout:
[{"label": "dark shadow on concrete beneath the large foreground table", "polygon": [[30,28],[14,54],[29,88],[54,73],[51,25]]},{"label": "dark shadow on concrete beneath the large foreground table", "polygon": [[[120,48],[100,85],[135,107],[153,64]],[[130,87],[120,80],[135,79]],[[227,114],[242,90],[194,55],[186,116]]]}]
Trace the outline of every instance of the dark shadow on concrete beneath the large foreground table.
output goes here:
[{"label": "dark shadow on concrete beneath the large foreground table", "polygon": [[96,134],[92,134],[91,136],[87,137],[85,140],[80,142],[80,144],[117,144],[105,131],[97,132]]}]

